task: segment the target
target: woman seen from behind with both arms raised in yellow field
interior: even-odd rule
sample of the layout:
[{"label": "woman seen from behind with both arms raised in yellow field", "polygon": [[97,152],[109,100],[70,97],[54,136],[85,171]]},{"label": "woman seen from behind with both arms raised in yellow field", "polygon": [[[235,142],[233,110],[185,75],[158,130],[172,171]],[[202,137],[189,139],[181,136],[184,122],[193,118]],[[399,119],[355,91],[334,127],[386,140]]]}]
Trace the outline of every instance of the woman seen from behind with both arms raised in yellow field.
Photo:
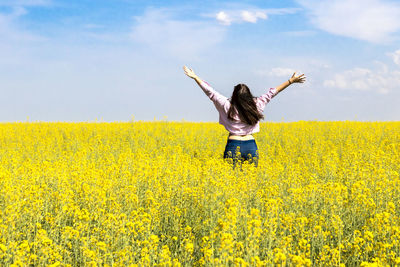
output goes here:
[{"label": "woman seen from behind with both arms raised in yellow field", "polygon": [[280,91],[292,83],[303,83],[304,74],[296,76],[296,72],[286,82],[260,97],[253,97],[245,84],[234,87],[230,99],[215,91],[207,82],[201,80],[192,69],[184,66],[185,74],[194,79],[204,93],[214,102],[219,112],[219,123],[225,126],[229,136],[224,151],[224,158],[232,158],[235,168],[236,162],[249,160],[258,165],[258,148],[253,133],[260,131],[259,120],[263,119],[262,112],[265,105]]}]

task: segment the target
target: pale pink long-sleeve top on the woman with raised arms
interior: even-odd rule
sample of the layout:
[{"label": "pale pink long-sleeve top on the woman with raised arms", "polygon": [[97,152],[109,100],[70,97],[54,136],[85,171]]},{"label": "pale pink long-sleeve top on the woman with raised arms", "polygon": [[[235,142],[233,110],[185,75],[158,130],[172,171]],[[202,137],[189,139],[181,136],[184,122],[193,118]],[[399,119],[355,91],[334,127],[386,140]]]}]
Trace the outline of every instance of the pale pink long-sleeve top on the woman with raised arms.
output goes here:
[{"label": "pale pink long-sleeve top on the woman with raised arms", "polygon": [[[234,135],[248,135],[260,131],[260,124],[249,125],[241,122],[237,114],[233,117],[235,120],[228,119],[228,110],[231,102],[228,98],[215,91],[207,82],[201,81],[200,87],[204,93],[213,101],[219,113],[219,123],[222,124],[228,132]],[[264,111],[265,105],[277,95],[276,88],[270,88],[268,92],[256,98],[256,105],[260,112]]]}]

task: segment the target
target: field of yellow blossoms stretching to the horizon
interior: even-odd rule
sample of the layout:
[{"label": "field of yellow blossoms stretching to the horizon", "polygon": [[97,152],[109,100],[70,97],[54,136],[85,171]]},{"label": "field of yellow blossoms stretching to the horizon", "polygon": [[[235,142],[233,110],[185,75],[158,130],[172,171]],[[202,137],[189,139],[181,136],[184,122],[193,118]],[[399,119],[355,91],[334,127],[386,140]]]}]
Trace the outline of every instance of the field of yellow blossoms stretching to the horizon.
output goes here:
[{"label": "field of yellow blossoms stretching to the horizon", "polygon": [[400,266],[400,122],[0,124],[0,266]]}]

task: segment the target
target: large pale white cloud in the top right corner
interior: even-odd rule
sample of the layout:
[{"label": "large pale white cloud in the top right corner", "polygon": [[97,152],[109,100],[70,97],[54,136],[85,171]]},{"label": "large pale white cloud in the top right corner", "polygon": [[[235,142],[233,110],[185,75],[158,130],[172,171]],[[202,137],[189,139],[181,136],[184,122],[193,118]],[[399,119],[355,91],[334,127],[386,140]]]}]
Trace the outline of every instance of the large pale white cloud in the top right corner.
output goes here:
[{"label": "large pale white cloud in the top right corner", "polygon": [[374,43],[400,31],[400,3],[385,0],[297,0],[311,22],[329,33]]}]

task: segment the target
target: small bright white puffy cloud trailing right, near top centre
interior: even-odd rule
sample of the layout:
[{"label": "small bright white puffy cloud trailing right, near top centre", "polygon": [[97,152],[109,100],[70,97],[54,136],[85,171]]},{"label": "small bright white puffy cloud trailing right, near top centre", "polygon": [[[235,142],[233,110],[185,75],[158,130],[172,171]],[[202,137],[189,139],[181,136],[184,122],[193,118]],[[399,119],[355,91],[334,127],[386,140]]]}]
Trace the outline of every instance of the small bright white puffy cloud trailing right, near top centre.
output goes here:
[{"label": "small bright white puffy cloud trailing right, near top centre", "polygon": [[296,8],[276,8],[276,9],[237,9],[219,11],[214,17],[223,25],[232,23],[257,23],[258,20],[265,20],[268,15],[284,15],[297,12]]}]

